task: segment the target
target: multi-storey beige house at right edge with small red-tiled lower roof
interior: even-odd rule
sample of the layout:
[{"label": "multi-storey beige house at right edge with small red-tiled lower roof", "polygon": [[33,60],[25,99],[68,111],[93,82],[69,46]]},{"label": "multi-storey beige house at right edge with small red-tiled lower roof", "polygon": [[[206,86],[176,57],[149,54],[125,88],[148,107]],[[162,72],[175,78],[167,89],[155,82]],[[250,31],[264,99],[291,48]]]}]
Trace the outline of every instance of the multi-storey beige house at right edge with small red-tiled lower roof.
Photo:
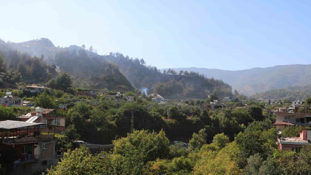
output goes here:
[{"label": "multi-storey beige house at right edge with small red-tiled lower roof", "polygon": [[[293,104],[295,104],[293,102]],[[311,112],[309,106],[292,105],[279,108],[275,112],[276,122],[273,124],[279,130],[284,130],[289,125],[311,126]]]}]

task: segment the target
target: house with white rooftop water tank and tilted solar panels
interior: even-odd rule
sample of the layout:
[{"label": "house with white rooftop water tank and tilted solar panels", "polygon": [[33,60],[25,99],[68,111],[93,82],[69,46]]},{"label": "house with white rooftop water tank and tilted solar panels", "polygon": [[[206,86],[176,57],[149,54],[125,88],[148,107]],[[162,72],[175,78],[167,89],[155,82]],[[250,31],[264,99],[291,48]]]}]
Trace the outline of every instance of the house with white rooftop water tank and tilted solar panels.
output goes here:
[{"label": "house with white rooftop water tank and tilted solar panels", "polygon": [[[19,116],[20,121],[25,122],[37,122],[49,125],[59,126],[57,130],[65,130],[65,119],[64,116],[51,116],[54,109],[43,109],[42,107],[36,107],[34,111],[29,112],[26,115]],[[44,131],[46,128],[41,127],[40,131]]]}]

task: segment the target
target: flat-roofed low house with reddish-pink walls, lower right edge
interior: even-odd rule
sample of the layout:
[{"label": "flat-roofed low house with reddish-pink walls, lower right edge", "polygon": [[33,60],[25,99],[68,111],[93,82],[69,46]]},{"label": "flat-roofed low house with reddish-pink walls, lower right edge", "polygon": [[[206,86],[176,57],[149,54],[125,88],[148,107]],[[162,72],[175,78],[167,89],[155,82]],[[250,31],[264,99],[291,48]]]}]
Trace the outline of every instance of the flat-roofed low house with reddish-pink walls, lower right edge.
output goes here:
[{"label": "flat-roofed low house with reddish-pink walls, lower right edge", "polygon": [[300,130],[300,137],[281,137],[277,144],[278,149],[299,152],[302,146],[311,145],[311,129]]}]

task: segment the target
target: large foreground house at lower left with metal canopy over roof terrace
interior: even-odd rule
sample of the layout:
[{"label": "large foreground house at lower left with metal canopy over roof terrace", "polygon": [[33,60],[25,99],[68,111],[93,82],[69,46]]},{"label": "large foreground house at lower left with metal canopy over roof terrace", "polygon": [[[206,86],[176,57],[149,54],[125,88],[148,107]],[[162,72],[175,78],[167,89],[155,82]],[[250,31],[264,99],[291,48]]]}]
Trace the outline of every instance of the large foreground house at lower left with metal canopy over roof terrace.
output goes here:
[{"label": "large foreground house at lower left with metal canopy over roof terrace", "polygon": [[61,152],[56,151],[54,134],[41,135],[38,131],[41,127],[53,130],[56,126],[23,121],[0,121],[0,154],[6,163],[2,166],[13,164],[12,170],[9,170],[11,175],[40,174],[51,165],[56,166],[62,158]]}]

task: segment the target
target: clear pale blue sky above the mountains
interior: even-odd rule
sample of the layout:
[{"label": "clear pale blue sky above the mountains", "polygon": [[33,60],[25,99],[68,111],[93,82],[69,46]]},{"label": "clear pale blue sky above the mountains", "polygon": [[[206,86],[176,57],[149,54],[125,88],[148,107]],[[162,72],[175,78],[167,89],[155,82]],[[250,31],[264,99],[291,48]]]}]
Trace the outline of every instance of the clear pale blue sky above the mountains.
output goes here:
[{"label": "clear pale blue sky above the mountains", "polygon": [[311,64],[311,1],[3,1],[0,38],[93,45],[158,68]]}]

